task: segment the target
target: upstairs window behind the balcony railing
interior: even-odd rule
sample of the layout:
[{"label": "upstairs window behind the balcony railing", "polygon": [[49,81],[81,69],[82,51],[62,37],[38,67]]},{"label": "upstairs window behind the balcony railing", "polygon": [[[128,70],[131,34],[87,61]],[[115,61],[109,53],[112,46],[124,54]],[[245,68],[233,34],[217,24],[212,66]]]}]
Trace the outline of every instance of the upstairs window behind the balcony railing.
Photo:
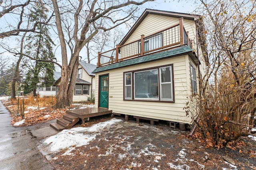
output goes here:
[{"label": "upstairs window behind the balcony railing", "polygon": [[[141,42],[139,41],[138,49],[140,53]],[[144,52],[162,47],[162,33],[147,37],[144,39]]]}]

